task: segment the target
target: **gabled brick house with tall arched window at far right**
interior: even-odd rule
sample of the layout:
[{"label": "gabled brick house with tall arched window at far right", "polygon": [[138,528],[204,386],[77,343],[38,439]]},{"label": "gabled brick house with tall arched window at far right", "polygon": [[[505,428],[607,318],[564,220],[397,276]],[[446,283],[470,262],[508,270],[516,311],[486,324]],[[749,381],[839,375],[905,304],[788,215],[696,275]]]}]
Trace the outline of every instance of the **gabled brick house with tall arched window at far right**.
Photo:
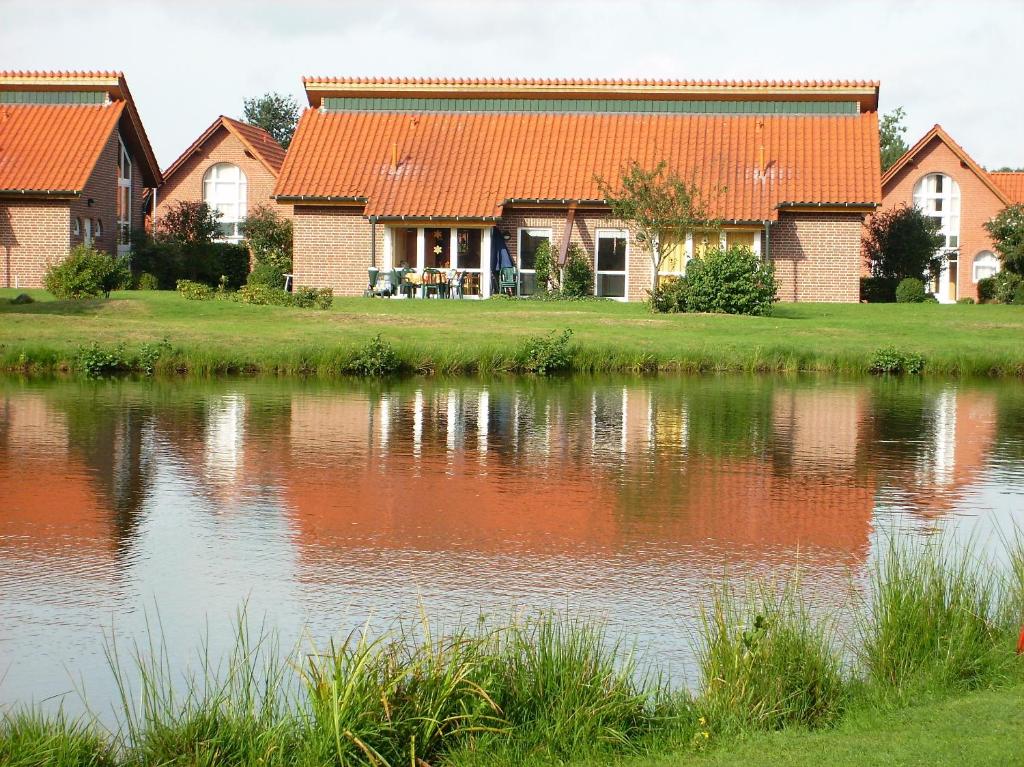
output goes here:
[{"label": "gabled brick house with tall arched window at far right", "polygon": [[936,218],[946,263],[931,291],[942,303],[978,298],[978,281],[999,270],[985,221],[1024,203],[1024,173],[989,173],[934,126],[882,176],[886,209],[916,205]]}]

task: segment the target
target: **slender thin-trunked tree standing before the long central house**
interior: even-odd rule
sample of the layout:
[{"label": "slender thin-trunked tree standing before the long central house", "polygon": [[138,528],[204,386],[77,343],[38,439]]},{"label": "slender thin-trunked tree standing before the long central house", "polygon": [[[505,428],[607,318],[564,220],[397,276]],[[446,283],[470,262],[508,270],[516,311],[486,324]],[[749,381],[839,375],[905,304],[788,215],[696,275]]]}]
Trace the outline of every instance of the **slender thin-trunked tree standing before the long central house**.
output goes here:
[{"label": "slender thin-trunked tree standing before the long central house", "polygon": [[596,180],[605,203],[611,208],[611,215],[629,224],[636,232],[637,242],[647,248],[655,291],[665,256],[665,241],[678,241],[694,228],[716,228],[718,225],[710,219],[696,184],[683,181],[669,170],[664,160],[652,170],[645,170],[636,160],[631,161],[623,169],[620,189],[612,188],[600,176]]}]

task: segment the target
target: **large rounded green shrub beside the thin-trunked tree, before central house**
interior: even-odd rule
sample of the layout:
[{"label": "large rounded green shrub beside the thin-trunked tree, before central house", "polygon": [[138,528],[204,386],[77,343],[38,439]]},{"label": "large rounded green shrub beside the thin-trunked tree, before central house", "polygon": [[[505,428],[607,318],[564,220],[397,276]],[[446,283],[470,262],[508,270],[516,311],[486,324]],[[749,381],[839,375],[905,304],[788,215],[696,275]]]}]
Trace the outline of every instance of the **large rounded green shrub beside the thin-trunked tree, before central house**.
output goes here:
[{"label": "large rounded green shrub beside the thin-trunked tree, before central house", "polygon": [[692,259],[686,283],[689,311],[766,315],[778,300],[775,268],[750,248],[713,250]]}]

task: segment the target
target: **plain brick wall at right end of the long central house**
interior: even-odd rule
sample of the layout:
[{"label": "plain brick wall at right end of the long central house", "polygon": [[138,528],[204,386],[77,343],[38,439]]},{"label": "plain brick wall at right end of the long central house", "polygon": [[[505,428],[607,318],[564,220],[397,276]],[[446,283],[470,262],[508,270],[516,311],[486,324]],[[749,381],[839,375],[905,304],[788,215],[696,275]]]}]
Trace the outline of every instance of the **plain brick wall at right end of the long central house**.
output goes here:
[{"label": "plain brick wall at right end of the long central house", "polygon": [[859,214],[779,214],[770,244],[779,299],[860,300],[862,226]]}]

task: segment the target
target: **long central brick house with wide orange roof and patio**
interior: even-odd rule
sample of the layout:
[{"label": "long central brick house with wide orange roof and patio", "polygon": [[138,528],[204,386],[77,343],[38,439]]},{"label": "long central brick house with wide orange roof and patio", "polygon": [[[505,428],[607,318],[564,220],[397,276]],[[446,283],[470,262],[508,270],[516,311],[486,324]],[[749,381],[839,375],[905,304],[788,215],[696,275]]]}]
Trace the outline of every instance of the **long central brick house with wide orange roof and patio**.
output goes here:
[{"label": "long central brick house with wide orange roof and patio", "polygon": [[873,82],[304,80],[309,109],[274,197],[294,205],[295,281],[358,295],[374,263],[449,266],[493,290],[497,230],[536,289],[545,240],[575,243],[595,292],[642,300],[650,258],[596,177],[665,160],[720,230],[663,244],[663,274],[746,245],[787,301],[856,301],[863,218],[881,201]]}]

